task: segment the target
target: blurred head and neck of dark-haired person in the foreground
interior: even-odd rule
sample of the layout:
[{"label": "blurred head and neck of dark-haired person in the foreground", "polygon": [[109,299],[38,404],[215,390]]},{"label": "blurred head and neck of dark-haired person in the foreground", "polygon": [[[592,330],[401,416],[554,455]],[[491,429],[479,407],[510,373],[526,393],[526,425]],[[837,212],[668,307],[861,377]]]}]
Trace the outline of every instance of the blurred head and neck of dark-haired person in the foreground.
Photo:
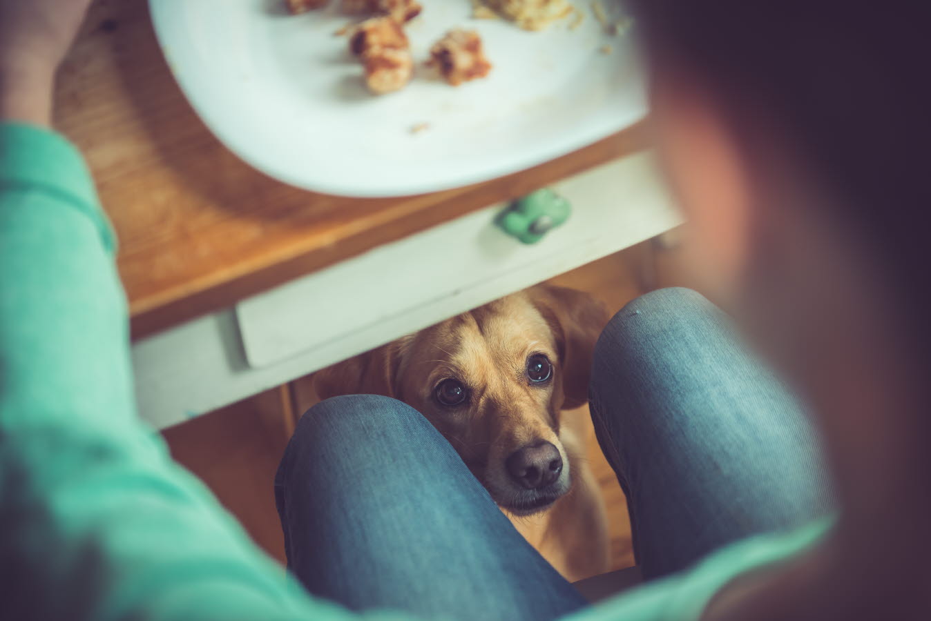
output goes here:
[{"label": "blurred head and neck of dark-haired person in the foreground", "polygon": [[931,4],[627,7],[716,299],[813,403],[850,519],[923,520]]}]

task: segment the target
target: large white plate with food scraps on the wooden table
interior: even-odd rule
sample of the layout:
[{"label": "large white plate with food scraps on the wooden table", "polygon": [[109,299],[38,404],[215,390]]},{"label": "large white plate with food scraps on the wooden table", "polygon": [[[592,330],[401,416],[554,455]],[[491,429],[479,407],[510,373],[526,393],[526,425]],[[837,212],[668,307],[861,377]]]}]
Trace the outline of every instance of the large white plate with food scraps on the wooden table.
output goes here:
[{"label": "large white plate with food scraps on the wooden table", "polygon": [[445,190],[584,147],[646,112],[632,38],[602,33],[587,0],[576,0],[578,28],[570,17],[543,33],[470,19],[469,0],[422,0],[406,29],[414,58],[466,27],[479,31],[492,73],[453,87],[419,68],[381,97],[334,35],[349,21],[337,2],[290,16],[283,0],[150,0],[197,113],[242,159],[292,185],[347,196]]}]

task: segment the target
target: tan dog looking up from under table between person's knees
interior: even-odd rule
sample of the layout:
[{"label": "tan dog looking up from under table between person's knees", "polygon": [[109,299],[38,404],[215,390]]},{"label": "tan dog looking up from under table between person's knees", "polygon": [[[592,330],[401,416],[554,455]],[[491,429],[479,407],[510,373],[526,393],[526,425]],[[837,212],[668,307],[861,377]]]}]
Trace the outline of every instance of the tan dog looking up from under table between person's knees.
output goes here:
[{"label": "tan dog looking up from under table between person's knees", "polygon": [[452,443],[520,533],[562,575],[608,569],[585,461],[592,351],[607,324],[587,294],[537,285],[315,374],[320,399],[394,397]]}]

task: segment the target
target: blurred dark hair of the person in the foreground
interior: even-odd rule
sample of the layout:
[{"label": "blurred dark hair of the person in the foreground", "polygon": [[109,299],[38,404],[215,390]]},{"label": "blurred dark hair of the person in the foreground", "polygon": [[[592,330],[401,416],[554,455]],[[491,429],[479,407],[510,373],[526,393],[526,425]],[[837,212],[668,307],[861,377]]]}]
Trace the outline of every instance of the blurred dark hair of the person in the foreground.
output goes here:
[{"label": "blurred dark hair of the person in the foreground", "polygon": [[902,279],[893,286],[907,311],[919,310],[915,319],[927,323],[931,3],[629,0],[627,7],[654,67],[694,75],[735,123],[763,118],[784,133],[836,198],[834,221],[859,231],[878,267]]}]

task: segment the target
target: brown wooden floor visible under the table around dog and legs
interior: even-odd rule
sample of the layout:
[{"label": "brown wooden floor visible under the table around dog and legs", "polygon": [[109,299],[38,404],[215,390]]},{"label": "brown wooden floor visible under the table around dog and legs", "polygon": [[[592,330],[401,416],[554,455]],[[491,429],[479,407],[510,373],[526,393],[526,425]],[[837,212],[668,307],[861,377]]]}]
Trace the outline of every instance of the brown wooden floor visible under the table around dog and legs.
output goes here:
[{"label": "brown wooden floor visible under the table around dog and legs", "polygon": [[[647,242],[561,274],[552,282],[588,291],[614,312],[655,286],[691,284],[678,269],[678,252]],[[206,482],[255,542],[280,562],[284,562],[284,547],[272,482],[290,436],[291,403],[289,387],[281,387],[164,432],[172,455]],[[612,569],[630,566],[634,561],[627,503],[593,430],[588,459],[611,523]]]}]

